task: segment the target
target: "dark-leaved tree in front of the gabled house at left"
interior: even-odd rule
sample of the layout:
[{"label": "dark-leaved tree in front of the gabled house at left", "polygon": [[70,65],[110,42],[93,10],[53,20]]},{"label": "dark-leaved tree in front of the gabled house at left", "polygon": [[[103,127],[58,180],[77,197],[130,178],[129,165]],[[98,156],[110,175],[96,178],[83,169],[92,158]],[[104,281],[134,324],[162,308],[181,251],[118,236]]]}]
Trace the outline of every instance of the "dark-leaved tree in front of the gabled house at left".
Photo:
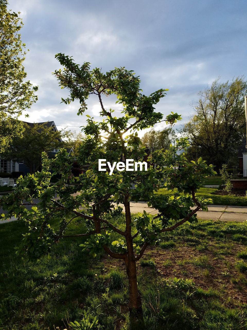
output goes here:
[{"label": "dark-leaved tree in front of the gabled house at left", "polygon": [[69,132],[54,132],[53,128],[47,126],[46,123],[29,125],[22,122],[22,124],[24,131],[13,139],[11,147],[2,153],[1,157],[15,161],[23,160],[24,164],[29,167],[30,173],[34,173],[40,169],[42,152],[66,147],[63,139],[69,136]]}]

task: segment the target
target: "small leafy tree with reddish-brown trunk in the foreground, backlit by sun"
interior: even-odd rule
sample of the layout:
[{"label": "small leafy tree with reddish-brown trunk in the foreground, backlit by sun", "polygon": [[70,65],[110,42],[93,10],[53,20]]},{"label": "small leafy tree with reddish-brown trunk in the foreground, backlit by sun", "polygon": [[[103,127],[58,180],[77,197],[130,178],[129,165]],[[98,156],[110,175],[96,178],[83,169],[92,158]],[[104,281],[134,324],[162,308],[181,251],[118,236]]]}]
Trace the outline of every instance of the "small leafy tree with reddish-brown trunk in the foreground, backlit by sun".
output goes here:
[{"label": "small leafy tree with reddish-brown trunk in the foreground, backlit by sun", "polygon": [[[148,128],[159,122],[163,115],[155,112],[154,105],[166,94],[166,89],[159,89],[146,96],[141,93],[140,79],[133,71],[116,68],[106,74],[99,69],[90,71],[89,63],[79,66],[71,57],[56,55],[64,70],[55,72],[63,87],[70,91],[70,97],[63,100],[66,104],[79,99],[81,107],[78,114],[87,110],[86,100],[91,94],[98,97],[101,105],[101,122],[94,121],[86,115],[87,125],[83,131],[86,139],[79,148],[77,161],[91,164],[86,175],[74,178],[71,175],[72,162],[65,150],[60,150],[53,160],[43,156],[42,172],[21,178],[17,189],[8,197],[1,199],[1,206],[10,214],[16,214],[29,224],[17,253],[35,260],[48,254],[52,245],[64,237],[86,237],[80,245],[83,250],[95,257],[98,251],[104,250],[115,259],[124,260],[129,283],[129,310],[131,315],[142,315],[141,297],[137,285],[136,263],[149,245],[155,245],[160,233],[172,231],[186,221],[196,221],[196,212],[206,210],[211,200],[196,197],[197,189],[203,184],[205,176],[215,174],[212,165],[207,166],[202,158],[197,162],[188,162],[184,150],[186,139],[177,140],[175,146],[167,150],[156,150],[149,157],[150,167],[147,171],[114,170],[98,171],[98,159],[110,163],[125,159],[141,161],[146,155],[146,147],[141,146],[136,130]],[[123,105],[124,116],[116,117],[113,110],[106,110],[102,96],[115,94],[118,103]],[[180,116],[166,116],[167,123],[173,124]],[[155,166],[154,166],[155,165]],[[179,170],[175,169],[175,166]],[[61,180],[49,184],[53,174],[59,173]],[[165,180],[166,178],[166,180]],[[69,182],[69,185],[65,183]],[[132,185],[134,189],[131,189]],[[156,196],[154,191],[161,184],[173,191],[174,196]],[[77,194],[75,194],[77,193]],[[58,199],[54,196],[57,194]],[[26,209],[26,204],[34,204]],[[25,203],[23,203],[25,199]],[[156,216],[146,212],[131,216],[131,200],[148,200],[148,204],[158,210]],[[12,205],[14,200],[14,205]],[[122,212],[124,204],[125,222],[118,224],[115,216]],[[196,208],[191,207],[196,204]],[[8,215],[4,216],[5,218]],[[66,228],[74,218],[85,220],[87,231],[77,235],[66,235]],[[59,223],[59,228],[56,225]],[[113,240],[112,233],[118,233],[120,240]],[[141,242],[136,246],[136,242]]]}]

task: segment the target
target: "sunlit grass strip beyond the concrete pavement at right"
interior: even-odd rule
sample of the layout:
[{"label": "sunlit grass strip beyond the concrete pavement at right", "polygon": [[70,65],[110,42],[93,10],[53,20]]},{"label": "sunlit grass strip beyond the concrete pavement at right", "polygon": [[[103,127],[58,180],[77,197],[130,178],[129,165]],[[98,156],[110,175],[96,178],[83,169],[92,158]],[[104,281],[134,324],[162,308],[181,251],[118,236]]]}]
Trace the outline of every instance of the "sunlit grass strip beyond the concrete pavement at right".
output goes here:
[{"label": "sunlit grass strip beyond the concrete pavement at right", "polygon": [[[200,188],[196,195],[198,197],[211,198],[214,205],[233,205],[233,206],[247,206],[247,198],[235,195],[215,195],[214,192],[218,188]],[[159,195],[172,195],[173,193],[161,188],[156,192]]]}]

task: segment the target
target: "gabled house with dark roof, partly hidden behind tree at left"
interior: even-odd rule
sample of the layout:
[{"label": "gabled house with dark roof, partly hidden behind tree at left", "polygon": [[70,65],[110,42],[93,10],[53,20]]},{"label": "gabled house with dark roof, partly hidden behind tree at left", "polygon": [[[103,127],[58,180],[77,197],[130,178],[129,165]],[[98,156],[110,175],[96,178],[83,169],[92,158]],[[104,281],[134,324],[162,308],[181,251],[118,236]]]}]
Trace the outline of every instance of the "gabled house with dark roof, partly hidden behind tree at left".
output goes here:
[{"label": "gabled house with dark roof, partly hidden behind tree at left", "polygon": [[[29,123],[24,121],[29,126],[33,127],[34,123]],[[48,122],[40,122],[37,123],[38,125],[46,124],[47,127],[52,127],[52,130],[54,132],[57,132],[58,129],[54,123],[54,121],[48,121]],[[59,149],[53,149],[49,152],[47,152],[49,158],[54,158],[55,154],[58,152]],[[71,148],[67,149],[67,152],[70,154],[72,151]],[[9,159],[1,159],[0,160],[0,172],[1,173],[13,173],[13,172],[20,172],[22,175],[26,175],[30,172],[29,167],[23,162],[23,160],[19,160],[18,162],[14,160]],[[1,174],[0,174],[1,175]]]}]

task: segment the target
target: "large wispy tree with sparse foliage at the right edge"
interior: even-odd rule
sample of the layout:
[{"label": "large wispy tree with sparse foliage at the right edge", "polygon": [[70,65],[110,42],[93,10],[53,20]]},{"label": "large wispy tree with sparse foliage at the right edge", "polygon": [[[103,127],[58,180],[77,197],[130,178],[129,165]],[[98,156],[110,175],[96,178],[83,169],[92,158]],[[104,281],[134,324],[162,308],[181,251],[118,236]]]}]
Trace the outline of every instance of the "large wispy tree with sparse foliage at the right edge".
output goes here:
[{"label": "large wispy tree with sparse foliage at the right edge", "polygon": [[219,170],[235,155],[246,134],[246,90],[243,77],[225,83],[218,78],[199,93],[200,99],[193,105],[195,113],[182,130],[191,144],[191,159],[200,155]]}]

